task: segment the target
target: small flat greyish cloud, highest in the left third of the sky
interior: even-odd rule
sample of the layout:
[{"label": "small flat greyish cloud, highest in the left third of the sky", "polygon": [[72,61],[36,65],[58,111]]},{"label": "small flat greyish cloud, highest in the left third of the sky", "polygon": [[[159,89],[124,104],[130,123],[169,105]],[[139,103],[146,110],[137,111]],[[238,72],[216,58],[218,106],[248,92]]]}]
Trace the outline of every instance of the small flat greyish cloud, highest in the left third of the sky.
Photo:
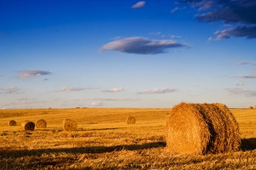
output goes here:
[{"label": "small flat greyish cloud, highest in the left third of the sky", "polygon": [[52,73],[49,71],[32,71],[32,70],[23,70],[18,71],[17,77],[20,79],[31,79],[34,77],[38,77],[41,75],[51,75]]}]

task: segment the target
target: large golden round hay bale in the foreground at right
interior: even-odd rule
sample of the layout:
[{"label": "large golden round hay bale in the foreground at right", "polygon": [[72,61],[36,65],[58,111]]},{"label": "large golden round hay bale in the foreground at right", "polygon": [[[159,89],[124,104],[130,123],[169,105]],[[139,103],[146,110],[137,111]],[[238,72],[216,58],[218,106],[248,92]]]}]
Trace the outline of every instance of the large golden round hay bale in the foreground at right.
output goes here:
[{"label": "large golden round hay bale in the foreground at right", "polygon": [[226,105],[179,103],[166,123],[166,145],[172,153],[191,155],[239,151],[238,123]]}]

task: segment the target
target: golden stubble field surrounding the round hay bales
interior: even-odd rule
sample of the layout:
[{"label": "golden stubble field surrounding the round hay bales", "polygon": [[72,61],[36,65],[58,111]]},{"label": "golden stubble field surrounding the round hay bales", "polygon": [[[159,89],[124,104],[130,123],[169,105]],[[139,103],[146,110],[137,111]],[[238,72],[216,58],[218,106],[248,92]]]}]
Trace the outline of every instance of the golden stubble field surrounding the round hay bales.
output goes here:
[{"label": "golden stubble field surrounding the round hay bales", "polygon": [[[165,148],[170,109],[75,108],[0,110],[0,169],[256,169],[256,109],[231,109],[240,126],[241,151],[174,155]],[[125,124],[134,116],[136,124]],[[65,132],[62,121],[77,121]],[[46,129],[21,122],[44,119]],[[9,120],[18,122],[8,126]]]}]

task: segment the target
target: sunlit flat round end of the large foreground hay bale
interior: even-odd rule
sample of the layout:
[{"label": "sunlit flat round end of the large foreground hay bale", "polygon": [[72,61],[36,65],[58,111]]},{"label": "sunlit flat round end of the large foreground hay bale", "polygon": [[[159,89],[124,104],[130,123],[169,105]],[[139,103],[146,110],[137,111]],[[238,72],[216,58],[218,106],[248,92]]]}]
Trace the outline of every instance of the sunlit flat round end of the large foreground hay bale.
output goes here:
[{"label": "sunlit flat round end of the large foreground hay bale", "polygon": [[205,153],[211,134],[200,109],[187,103],[172,108],[166,123],[166,146],[173,153]]}]

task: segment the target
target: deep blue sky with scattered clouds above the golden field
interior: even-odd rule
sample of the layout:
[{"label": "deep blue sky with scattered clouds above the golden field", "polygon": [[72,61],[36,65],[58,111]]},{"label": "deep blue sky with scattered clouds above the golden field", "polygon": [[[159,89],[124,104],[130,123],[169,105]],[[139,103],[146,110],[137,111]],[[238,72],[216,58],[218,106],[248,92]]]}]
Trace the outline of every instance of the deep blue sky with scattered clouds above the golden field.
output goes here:
[{"label": "deep blue sky with scattered clouds above the golden field", "polygon": [[256,105],[256,1],[0,0],[0,109]]}]

